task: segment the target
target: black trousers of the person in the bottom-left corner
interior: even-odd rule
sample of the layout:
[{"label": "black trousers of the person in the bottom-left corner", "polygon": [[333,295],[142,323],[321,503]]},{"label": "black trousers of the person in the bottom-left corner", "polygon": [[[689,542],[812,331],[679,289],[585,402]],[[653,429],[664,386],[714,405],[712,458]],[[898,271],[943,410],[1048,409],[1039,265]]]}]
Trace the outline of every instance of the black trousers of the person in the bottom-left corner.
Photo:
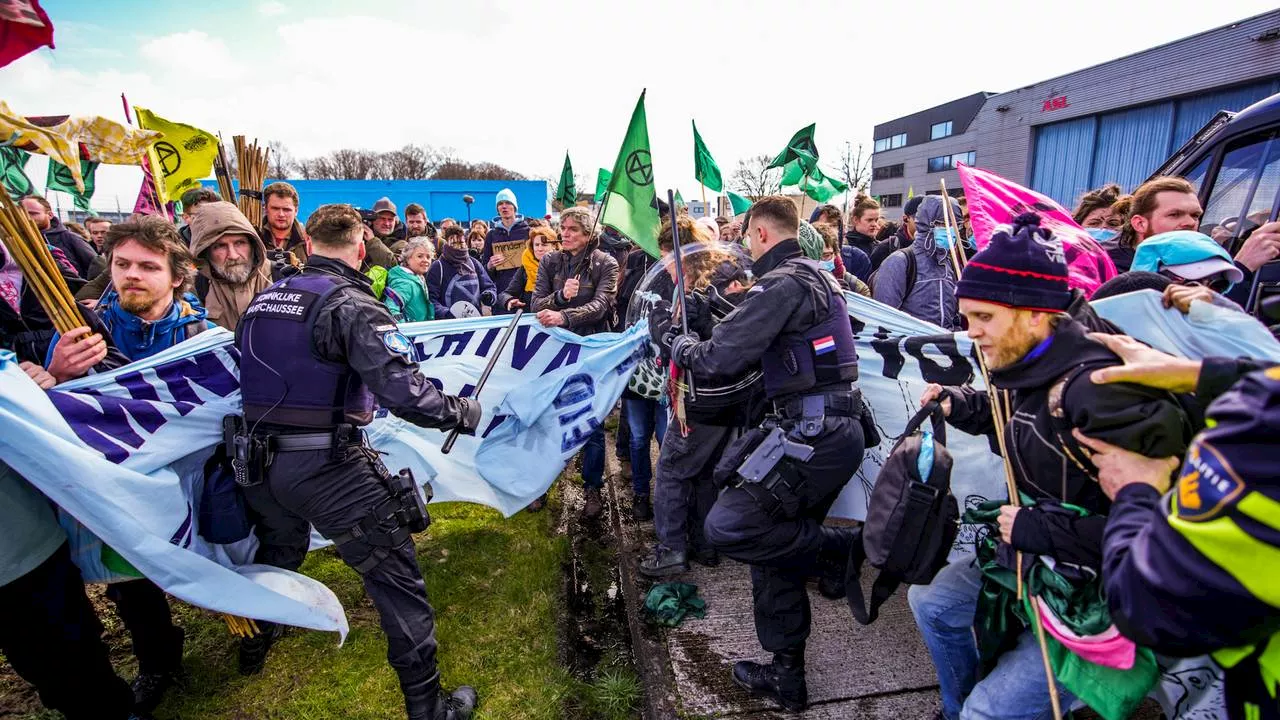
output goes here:
[{"label": "black trousers of the person in the bottom-left corner", "polygon": [[111,669],[102,624],[67,543],[0,585],[0,652],[67,720],[125,720],[133,692]]}]

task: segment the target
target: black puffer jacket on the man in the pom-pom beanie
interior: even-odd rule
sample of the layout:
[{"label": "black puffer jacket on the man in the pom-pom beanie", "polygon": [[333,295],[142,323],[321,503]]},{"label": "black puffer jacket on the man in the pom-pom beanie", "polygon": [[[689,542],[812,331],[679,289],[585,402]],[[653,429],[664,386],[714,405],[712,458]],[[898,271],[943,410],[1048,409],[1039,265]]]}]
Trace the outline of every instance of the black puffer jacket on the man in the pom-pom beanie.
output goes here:
[{"label": "black puffer jacket on the man in the pom-pom beanie", "polygon": [[[1093,384],[1089,370],[1119,365],[1120,359],[1085,337],[1085,332],[1078,322],[1064,320],[1042,352],[1032,351],[1028,357],[1036,357],[993,370],[991,382],[1011,395],[1014,411],[1005,428],[1005,442],[1018,489],[1037,501],[1069,502],[1094,514],[1078,518],[1053,512],[1050,510],[1052,502],[1043,510],[1023,510],[1014,523],[1014,547],[1100,568],[1102,529],[1111,502],[1091,477],[1093,469],[1087,459],[1082,468],[1064,452],[1065,445],[1071,455],[1083,457],[1069,437],[1069,428],[1148,457],[1181,456],[1194,428],[1178,400],[1167,392],[1125,383]],[[1076,368],[1084,370],[1062,388],[1060,380]],[[1051,391],[1062,393],[1060,407],[1065,423],[1050,418]],[[986,392],[948,387],[946,393],[952,404],[947,423],[966,433],[993,434]],[[1069,428],[1064,430],[1066,437],[1060,439],[1057,429],[1064,424]]]}]

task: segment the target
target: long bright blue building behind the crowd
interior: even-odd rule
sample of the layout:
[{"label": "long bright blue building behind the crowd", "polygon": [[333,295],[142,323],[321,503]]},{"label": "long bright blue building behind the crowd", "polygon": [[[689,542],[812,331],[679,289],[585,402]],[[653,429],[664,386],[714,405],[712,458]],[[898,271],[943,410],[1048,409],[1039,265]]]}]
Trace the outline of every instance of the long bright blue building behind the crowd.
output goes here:
[{"label": "long bright blue building behind the crowd", "polygon": [[[275,182],[274,179],[266,181]],[[494,199],[502,188],[516,193],[520,213],[531,218],[541,218],[550,213],[550,190],[547,181],[285,181],[298,191],[298,220],[330,202],[347,202],[361,209],[370,209],[380,197],[390,197],[404,219],[404,206],[417,202],[426,209],[431,222],[454,218],[466,222],[470,218],[490,220],[498,214]],[[218,191],[215,181],[205,181],[205,187]],[[462,197],[475,197],[470,213]],[[250,218],[255,223],[259,218]]]}]

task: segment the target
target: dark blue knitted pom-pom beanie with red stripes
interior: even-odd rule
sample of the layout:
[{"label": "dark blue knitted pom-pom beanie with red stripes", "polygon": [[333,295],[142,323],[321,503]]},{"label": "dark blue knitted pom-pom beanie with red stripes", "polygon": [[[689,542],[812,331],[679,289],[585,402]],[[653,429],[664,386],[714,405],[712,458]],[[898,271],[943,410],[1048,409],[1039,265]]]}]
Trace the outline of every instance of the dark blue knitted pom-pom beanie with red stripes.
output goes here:
[{"label": "dark blue knitted pom-pom beanie with red stripes", "polygon": [[1014,227],[1001,227],[987,247],[960,273],[956,297],[983,300],[1043,313],[1059,313],[1071,304],[1062,242],[1039,227],[1039,215],[1027,213]]}]

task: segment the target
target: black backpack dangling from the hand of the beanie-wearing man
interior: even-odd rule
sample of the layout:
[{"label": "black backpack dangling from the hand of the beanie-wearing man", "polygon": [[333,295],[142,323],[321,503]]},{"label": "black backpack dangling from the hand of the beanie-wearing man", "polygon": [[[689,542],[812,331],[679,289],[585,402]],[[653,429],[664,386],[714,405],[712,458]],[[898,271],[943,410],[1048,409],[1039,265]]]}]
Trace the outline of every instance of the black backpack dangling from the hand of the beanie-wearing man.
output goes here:
[{"label": "black backpack dangling from the hand of the beanie-wearing man", "polygon": [[[916,432],[925,419],[932,420],[932,432]],[[942,407],[929,402],[906,423],[881,468],[845,585],[849,609],[863,625],[876,621],[879,606],[900,584],[928,584],[947,562],[960,510],[951,495],[952,459],[945,441]],[[859,582],[864,561],[879,570],[869,607]]]}]

